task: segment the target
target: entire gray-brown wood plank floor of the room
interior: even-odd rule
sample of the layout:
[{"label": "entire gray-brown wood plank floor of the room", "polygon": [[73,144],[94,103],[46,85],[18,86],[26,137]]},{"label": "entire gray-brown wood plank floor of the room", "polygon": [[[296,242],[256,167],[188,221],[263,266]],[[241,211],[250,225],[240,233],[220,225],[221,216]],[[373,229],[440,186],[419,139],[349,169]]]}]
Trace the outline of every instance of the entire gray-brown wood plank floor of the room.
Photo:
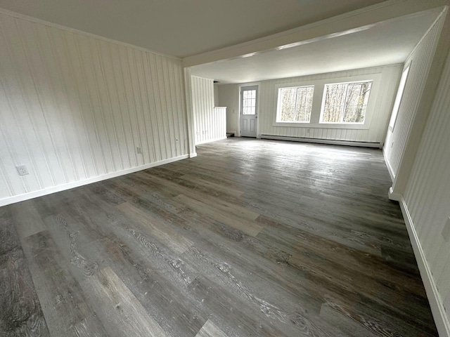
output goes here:
[{"label": "entire gray-brown wood plank floor of the room", "polygon": [[437,336],[379,150],[197,152],[0,208],[0,336]]}]

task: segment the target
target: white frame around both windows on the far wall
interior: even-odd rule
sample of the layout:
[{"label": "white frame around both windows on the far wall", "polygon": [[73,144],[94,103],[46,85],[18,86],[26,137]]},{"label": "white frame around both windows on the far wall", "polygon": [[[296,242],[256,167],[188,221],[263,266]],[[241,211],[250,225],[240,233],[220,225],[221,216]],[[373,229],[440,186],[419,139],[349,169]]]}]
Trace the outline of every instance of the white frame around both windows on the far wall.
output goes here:
[{"label": "white frame around both windows on the far wall", "polygon": [[[342,74],[342,73],[341,73]],[[331,75],[328,78],[325,76]],[[335,74],[336,76],[337,74]],[[295,81],[295,79],[279,79],[272,88],[274,88],[274,105],[273,105],[273,117],[272,126],[281,127],[295,127],[295,128],[336,128],[336,129],[356,129],[356,130],[368,130],[371,125],[371,120],[375,111],[375,107],[380,105],[380,82],[381,82],[381,72],[371,72],[364,75],[354,75],[354,76],[336,76],[333,74],[323,74],[322,79],[314,79],[304,81]],[[317,77],[317,75],[314,75]],[[296,78],[298,79],[298,77]],[[360,81],[373,81],[371,88],[371,95],[368,100],[368,105],[366,109],[366,118],[364,119],[364,124],[354,124],[354,123],[319,123],[322,110],[322,100],[323,91],[325,89],[325,84],[338,84],[338,83],[348,83],[348,82],[360,82]],[[278,82],[278,83],[277,83]],[[276,121],[277,110],[278,110],[278,89],[279,88],[293,88],[298,86],[312,86],[314,85],[314,95],[312,102],[311,119],[309,123],[306,122],[278,122]]]}]

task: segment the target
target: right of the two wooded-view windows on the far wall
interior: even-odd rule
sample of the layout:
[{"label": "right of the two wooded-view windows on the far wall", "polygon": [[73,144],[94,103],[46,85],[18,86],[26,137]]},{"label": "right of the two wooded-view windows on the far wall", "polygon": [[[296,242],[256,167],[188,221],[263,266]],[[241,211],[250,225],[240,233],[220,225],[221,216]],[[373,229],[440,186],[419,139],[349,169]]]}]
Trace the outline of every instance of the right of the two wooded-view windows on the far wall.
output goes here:
[{"label": "right of the two wooded-view windows on the far wall", "polygon": [[320,123],[364,124],[372,82],[326,84]]}]

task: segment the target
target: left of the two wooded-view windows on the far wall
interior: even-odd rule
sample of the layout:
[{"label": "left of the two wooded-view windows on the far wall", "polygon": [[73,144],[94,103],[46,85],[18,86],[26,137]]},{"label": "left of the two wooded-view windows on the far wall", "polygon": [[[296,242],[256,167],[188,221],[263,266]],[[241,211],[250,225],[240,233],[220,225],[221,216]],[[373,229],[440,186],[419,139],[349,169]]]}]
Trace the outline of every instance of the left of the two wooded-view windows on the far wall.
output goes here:
[{"label": "left of the two wooded-view windows on the far wall", "polygon": [[309,123],[314,86],[278,89],[277,122]]}]

